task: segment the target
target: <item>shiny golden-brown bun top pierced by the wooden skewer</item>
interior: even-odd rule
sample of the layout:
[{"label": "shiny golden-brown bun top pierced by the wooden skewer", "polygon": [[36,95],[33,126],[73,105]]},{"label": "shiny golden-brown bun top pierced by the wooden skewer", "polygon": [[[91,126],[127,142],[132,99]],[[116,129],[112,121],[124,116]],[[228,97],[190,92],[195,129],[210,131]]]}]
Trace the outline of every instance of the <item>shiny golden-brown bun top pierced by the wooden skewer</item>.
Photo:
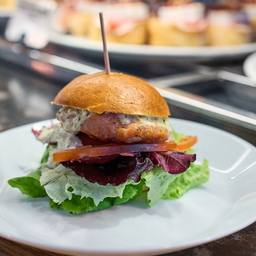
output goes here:
[{"label": "shiny golden-brown bun top pierced by the wooden skewer", "polygon": [[59,91],[52,103],[98,114],[171,115],[165,99],[154,87],[137,77],[114,72],[78,76]]}]

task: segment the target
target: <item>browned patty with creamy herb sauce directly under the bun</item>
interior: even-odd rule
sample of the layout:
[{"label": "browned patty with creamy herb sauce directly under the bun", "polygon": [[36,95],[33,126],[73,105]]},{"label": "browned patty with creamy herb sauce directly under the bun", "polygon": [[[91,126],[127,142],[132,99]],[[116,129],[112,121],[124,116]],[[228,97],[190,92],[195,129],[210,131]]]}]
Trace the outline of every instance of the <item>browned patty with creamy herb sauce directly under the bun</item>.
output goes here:
[{"label": "browned patty with creamy herb sauce directly under the bun", "polygon": [[172,139],[172,128],[165,118],[112,112],[97,114],[64,107],[57,112],[57,119],[69,132],[81,131],[104,142],[161,143]]}]

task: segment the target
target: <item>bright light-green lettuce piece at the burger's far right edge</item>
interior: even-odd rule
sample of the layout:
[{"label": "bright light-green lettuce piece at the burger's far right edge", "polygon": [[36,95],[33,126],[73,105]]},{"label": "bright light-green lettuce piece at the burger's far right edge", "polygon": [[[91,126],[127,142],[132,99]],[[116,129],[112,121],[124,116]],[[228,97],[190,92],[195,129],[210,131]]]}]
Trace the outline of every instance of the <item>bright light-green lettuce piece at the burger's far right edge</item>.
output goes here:
[{"label": "bright light-green lettuce piece at the burger's far right edge", "polygon": [[193,188],[200,186],[202,183],[206,183],[209,180],[209,167],[208,161],[204,160],[201,165],[195,165],[191,163],[190,167],[172,183],[169,184],[162,199],[178,199],[183,194]]}]

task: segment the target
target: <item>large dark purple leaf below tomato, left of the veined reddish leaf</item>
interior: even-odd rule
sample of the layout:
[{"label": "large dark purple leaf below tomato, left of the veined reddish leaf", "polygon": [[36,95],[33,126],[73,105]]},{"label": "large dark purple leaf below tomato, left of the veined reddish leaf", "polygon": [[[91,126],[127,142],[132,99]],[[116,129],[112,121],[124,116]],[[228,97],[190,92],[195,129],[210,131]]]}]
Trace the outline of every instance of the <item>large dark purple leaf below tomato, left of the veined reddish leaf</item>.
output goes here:
[{"label": "large dark purple leaf below tomato, left of the veined reddish leaf", "polygon": [[[118,186],[128,178],[139,182],[143,172],[151,171],[155,165],[148,158],[139,157],[137,154],[109,155],[105,157],[84,157],[79,160],[65,161],[62,165],[72,169],[75,174],[84,177],[91,183]],[[93,159],[90,159],[93,158]],[[97,158],[99,162],[97,162]],[[112,159],[111,159],[112,158]]]}]

